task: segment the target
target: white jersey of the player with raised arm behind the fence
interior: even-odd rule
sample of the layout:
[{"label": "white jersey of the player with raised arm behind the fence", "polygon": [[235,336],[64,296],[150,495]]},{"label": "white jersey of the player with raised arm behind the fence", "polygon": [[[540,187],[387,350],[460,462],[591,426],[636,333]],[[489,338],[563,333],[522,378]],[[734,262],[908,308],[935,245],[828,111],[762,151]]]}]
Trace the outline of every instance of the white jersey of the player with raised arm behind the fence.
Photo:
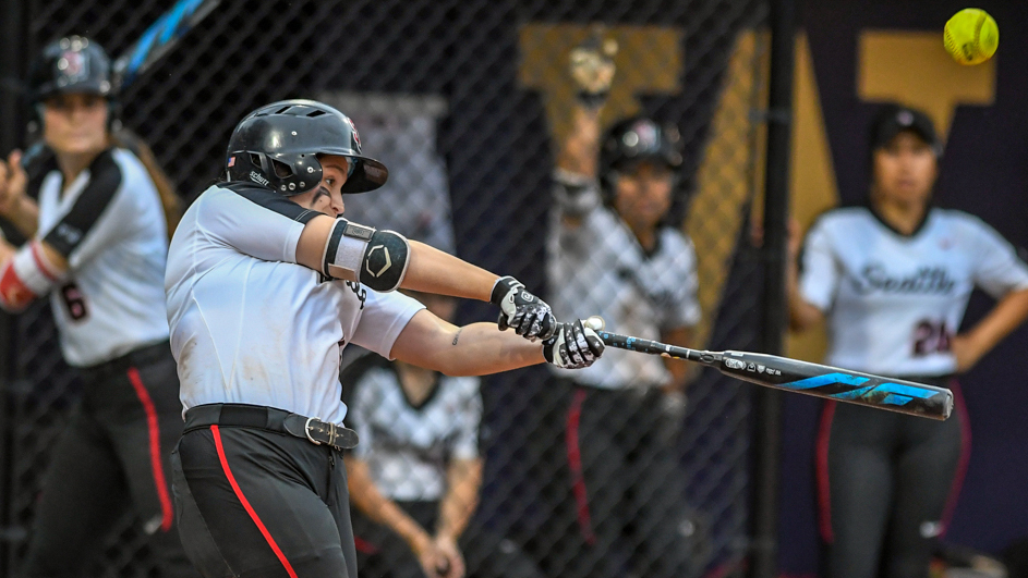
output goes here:
[{"label": "white jersey of the player with raised arm behind the fence", "polygon": [[[559,181],[556,187],[547,302],[557,319],[598,315],[612,331],[648,340],[700,321],[696,250],[685,234],[665,226],[654,250],[646,253],[621,218],[601,205],[595,183],[577,192]],[[577,226],[564,222],[572,212]],[[660,357],[613,347],[585,369],[554,370],[604,389],[661,386],[672,379]]]}]

